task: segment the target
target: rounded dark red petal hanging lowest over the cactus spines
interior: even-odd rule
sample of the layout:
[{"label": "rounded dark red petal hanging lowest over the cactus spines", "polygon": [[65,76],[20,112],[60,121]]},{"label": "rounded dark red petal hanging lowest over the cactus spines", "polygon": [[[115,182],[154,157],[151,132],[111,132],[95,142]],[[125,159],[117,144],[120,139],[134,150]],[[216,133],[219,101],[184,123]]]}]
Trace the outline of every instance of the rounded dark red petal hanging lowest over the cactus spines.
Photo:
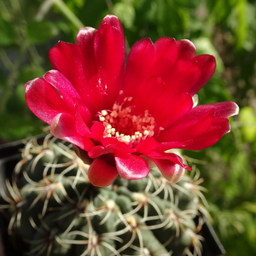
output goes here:
[{"label": "rounded dark red petal hanging lowest over the cactus spines", "polygon": [[114,166],[97,158],[90,165],[88,177],[90,183],[96,187],[107,187],[118,177],[118,172]]}]

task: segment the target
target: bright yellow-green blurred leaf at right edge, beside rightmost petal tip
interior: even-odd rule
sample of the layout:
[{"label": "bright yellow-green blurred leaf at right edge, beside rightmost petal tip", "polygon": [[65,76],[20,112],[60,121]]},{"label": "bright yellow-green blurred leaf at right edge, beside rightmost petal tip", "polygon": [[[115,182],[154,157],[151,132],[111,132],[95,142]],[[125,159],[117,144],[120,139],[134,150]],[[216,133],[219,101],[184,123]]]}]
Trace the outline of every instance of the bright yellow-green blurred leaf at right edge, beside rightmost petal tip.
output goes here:
[{"label": "bright yellow-green blurred leaf at right edge, beside rightmost petal tip", "polygon": [[240,110],[241,133],[245,141],[253,143],[256,140],[256,114],[253,108],[247,106]]}]

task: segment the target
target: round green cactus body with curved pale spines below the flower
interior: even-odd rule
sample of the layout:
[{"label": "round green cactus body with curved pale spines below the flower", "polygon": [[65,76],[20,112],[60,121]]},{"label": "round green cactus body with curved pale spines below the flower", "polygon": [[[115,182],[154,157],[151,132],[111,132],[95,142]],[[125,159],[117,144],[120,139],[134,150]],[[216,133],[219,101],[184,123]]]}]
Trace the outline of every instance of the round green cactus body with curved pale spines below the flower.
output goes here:
[{"label": "round green cactus body with curved pale spines below the flower", "polygon": [[29,255],[201,256],[203,217],[194,218],[207,211],[197,174],[170,183],[153,168],[141,180],[97,188],[88,167],[55,137],[26,143],[0,207]]}]

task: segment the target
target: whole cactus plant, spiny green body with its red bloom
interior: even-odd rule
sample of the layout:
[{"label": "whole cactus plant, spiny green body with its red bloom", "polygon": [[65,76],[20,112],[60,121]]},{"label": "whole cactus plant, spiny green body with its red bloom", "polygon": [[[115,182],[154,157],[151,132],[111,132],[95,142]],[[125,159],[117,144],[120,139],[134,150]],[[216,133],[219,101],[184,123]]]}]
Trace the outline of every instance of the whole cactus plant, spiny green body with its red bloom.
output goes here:
[{"label": "whole cactus plant, spiny green body with its red bloom", "polygon": [[107,15],[49,60],[26,102],[52,135],[26,144],[0,189],[9,234],[35,256],[201,255],[202,180],[170,149],[207,148],[230,131],[236,103],[196,102],[215,58],[189,40],[144,38],[125,61],[122,26]]}]

